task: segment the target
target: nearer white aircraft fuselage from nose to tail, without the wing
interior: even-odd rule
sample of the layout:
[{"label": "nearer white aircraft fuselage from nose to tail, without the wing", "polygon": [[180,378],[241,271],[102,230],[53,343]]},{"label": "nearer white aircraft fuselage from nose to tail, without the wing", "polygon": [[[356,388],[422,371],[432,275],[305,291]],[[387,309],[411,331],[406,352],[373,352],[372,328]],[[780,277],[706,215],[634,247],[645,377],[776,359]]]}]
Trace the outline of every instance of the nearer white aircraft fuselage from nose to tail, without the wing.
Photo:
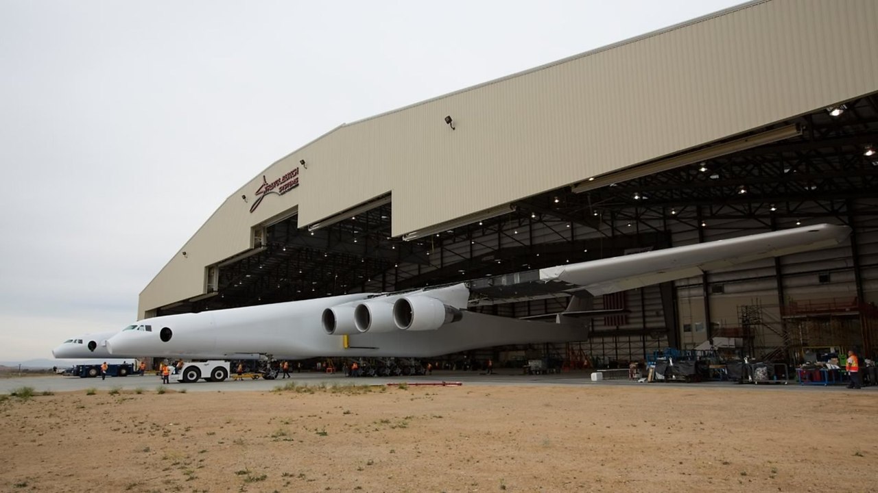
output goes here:
[{"label": "nearer white aircraft fuselage from nose to tail, without the wing", "polygon": [[[423,292],[430,298],[444,297],[450,291],[469,296],[463,285]],[[361,302],[373,298],[372,317],[381,318],[364,332],[327,333],[321,329],[324,312],[341,309],[351,315]],[[146,318],[138,325],[151,325],[152,331],[127,330],[108,342],[116,357],[179,356],[200,354],[205,359],[238,359],[242,354],[271,354],[280,359],[304,359],[317,356],[411,356],[428,357],[463,351],[472,347],[500,344],[552,342],[582,339],[585,333],[565,325],[539,324],[515,318],[501,318],[462,312],[453,323],[435,329],[400,330],[392,320],[393,301],[387,297],[358,293],[278,304],[263,304],[227,310],[184,313]],[[411,297],[409,297],[411,298]],[[350,309],[350,310],[345,310]],[[415,315],[417,317],[417,315]],[[339,322],[338,325],[344,325]],[[162,332],[164,331],[164,332]],[[164,335],[164,339],[162,338]],[[348,347],[345,347],[345,338]],[[165,340],[166,339],[166,340]]]}]

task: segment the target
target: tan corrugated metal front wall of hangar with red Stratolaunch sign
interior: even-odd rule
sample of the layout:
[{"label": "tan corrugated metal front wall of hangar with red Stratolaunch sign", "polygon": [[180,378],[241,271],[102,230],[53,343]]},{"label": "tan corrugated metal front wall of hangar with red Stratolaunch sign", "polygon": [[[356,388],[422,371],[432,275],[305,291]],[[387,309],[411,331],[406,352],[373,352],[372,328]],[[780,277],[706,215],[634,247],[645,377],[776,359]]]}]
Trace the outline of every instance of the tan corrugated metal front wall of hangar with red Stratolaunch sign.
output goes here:
[{"label": "tan corrugated metal front wall of hangar with red Stratolaunch sign", "polygon": [[263,174],[235,192],[181,249],[198,256],[176,255],[144,289],[140,313],[200,294],[205,265],[295,206],[306,225],[392,191],[401,235],[872,93],[876,18],[876,0],[754,2],[342,125],[264,172],[304,159],[299,189],[252,215],[241,194]]}]

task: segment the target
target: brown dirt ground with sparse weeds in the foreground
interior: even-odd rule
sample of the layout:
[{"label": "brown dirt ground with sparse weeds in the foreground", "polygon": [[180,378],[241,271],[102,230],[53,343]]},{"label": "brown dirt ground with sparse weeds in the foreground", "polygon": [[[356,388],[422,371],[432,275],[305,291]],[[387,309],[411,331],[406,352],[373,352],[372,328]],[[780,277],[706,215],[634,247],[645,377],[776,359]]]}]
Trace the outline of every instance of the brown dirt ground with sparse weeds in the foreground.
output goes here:
[{"label": "brown dirt ground with sparse weeds in the foreground", "polygon": [[878,491],[865,390],[137,392],[0,397],[0,489]]}]

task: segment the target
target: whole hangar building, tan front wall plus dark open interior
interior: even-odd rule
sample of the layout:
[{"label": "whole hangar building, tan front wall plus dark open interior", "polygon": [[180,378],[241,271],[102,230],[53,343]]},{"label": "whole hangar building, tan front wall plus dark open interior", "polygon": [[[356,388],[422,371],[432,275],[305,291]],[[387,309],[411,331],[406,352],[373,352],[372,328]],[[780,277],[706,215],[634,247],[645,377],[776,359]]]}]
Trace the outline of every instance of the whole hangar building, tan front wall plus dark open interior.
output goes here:
[{"label": "whole hangar building, tan front wall plus dark open interior", "polygon": [[525,317],[568,300],[503,299],[496,276],[831,223],[840,247],[599,297],[619,313],[544,349],[874,355],[876,20],[875,0],[759,0],[340,125],[235,190],[139,316],[477,280],[471,310]]}]

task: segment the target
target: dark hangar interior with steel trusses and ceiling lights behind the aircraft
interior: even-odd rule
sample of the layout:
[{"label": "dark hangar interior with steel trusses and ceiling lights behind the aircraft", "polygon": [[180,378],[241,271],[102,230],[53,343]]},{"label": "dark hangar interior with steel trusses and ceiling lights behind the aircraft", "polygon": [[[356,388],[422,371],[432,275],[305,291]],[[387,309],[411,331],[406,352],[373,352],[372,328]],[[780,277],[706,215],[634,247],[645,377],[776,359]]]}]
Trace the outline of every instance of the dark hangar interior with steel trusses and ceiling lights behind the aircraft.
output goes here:
[{"label": "dark hangar interior with steel trusses and ceiling lights behind the aircraft", "polygon": [[[538,289],[511,297],[496,289],[500,276],[831,223],[852,228],[846,244],[595,297],[594,308],[608,312],[582,319],[581,342],[485,348],[472,357],[502,362],[540,354],[570,367],[586,360],[624,364],[664,347],[694,348],[720,337],[742,340],[741,354],[764,361],[801,361],[823,347],[874,356],[876,153],[873,81],[870,92],[830,106],[596,178],[584,172],[580,182],[407,234],[392,230],[392,192],[319,223],[299,224],[298,209],[291,207],[248,226],[247,250],[208,262],[202,294],[147,313],[472,281],[479,294],[472,311],[523,318],[563,311],[570,297]],[[539,172],[535,166],[533,173]]]}]

